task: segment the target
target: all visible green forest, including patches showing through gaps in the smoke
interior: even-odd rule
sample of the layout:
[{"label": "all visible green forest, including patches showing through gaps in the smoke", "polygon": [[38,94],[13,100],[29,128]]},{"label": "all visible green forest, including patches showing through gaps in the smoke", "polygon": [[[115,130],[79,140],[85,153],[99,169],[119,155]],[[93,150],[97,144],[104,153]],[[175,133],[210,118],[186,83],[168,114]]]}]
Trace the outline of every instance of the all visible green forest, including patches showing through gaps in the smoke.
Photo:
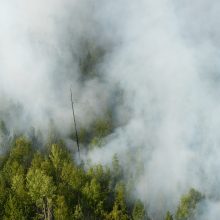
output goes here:
[{"label": "all visible green forest, including patches showing through gaps in the smoke", "polygon": [[[102,80],[97,65],[103,59],[105,50],[94,42],[82,45],[83,55],[78,59],[82,85],[92,79]],[[47,137],[43,138],[45,135],[33,127],[24,133],[19,130],[11,132],[4,121],[6,112],[2,112],[0,219],[154,220],[148,212],[149,204],[135,198],[135,177],[125,173],[117,154],[114,154],[109,165],[91,164],[80,158],[77,149],[77,142],[84,154],[105,147],[105,138],[122,126],[114,117],[117,100],[123,100],[120,87],[114,87],[112,95],[115,94],[116,101],[106,106],[106,111],[89,127],[80,126],[76,130],[77,135],[73,120],[73,129],[68,134],[73,141],[72,146],[66,145],[67,137],[62,137],[53,119],[48,125]],[[8,110],[18,112],[19,117],[22,107],[12,105]],[[134,160],[136,172],[141,174],[143,164],[136,161],[136,155],[132,152],[128,152],[127,156],[128,160]],[[163,219],[194,219],[198,214],[197,206],[204,198],[196,189],[189,189],[176,210],[167,210]]]}]

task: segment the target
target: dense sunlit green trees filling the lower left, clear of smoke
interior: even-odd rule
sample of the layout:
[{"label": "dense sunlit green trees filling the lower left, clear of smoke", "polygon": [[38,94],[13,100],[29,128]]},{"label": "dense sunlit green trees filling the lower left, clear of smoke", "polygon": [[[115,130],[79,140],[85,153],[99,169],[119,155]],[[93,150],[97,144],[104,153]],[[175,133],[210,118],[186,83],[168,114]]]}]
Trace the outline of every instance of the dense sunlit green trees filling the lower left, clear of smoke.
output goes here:
[{"label": "dense sunlit green trees filling the lower left, clear of smoke", "polygon": [[112,185],[110,169],[95,165],[86,171],[71,158],[62,142],[48,145],[42,154],[26,138],[15,139],[0,170],[0,215],[8,219],[15,215],[18,219],[128,219],[122,195],[125,187],[120,190],[118,184],[116,189],[116,180]]}]

